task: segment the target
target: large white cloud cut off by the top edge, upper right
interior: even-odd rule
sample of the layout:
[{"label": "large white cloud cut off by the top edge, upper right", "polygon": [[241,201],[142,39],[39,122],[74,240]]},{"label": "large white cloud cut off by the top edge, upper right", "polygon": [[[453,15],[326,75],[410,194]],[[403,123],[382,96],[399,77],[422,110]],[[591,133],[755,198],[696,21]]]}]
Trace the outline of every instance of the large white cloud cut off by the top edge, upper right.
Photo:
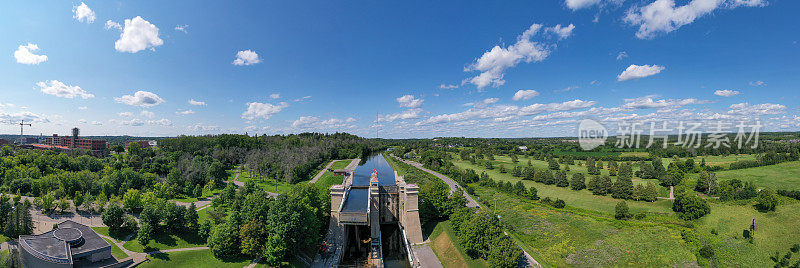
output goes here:
[{"label": "large white cloud cut off by the top edge, upper right", "polygon": [[686,5],[676,7],[674,0],[656,0],[645,6],[632,7],[623,20],[639,27],[637,38],[649,39],[658,32],[677,30],[720,7],[755,7],[765,4],[764,0],[692,0]]}]

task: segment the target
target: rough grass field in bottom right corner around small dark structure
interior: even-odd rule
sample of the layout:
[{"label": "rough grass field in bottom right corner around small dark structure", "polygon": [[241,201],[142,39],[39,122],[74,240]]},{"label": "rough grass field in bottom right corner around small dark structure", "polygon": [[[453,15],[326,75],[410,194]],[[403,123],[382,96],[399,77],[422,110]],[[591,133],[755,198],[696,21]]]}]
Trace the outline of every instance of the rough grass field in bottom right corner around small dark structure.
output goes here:
[{"label": "rough grass field in bottom right corner around small dark structure", "polygon": [[[800,202],[783,199],[777,211],[761,213],[748,205],[711,204],[711,214],[697,221],[696,230],[716,250],[717,262],[724,267],[772,267],[769,259],[776,251],[786,254],[800,243]],[[742,237],[742,230],[756,220],[753,244]],[[714,235],[711,230],[718,234]],[[794,263],[797,258],[793,258]]]}]

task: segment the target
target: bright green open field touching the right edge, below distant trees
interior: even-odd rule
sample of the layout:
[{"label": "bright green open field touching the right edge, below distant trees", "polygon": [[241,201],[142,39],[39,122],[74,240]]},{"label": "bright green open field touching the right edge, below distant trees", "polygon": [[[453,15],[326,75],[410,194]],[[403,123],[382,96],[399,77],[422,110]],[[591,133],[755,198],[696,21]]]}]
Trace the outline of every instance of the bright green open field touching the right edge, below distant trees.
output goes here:
[{"label": "bright green open field touching the right edge, below distant trees", "polygon": [[717,181],[752,181],[758,188],[800,190],[800,161],[777,165],[719,171]]}]

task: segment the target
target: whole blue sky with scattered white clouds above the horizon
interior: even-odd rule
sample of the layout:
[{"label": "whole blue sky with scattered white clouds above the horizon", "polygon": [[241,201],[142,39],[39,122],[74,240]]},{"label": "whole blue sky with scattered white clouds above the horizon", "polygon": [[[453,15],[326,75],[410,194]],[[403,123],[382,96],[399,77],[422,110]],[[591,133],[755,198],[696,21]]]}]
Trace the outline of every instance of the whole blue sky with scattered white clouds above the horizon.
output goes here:
[{"label": "whole blue sky with scattered white clouds above the horizon", "polygon": [[797,1],[5,6],[0,119],[32,120],[27,133],[536,137],[572,136],[582,118],[800,129]]}]

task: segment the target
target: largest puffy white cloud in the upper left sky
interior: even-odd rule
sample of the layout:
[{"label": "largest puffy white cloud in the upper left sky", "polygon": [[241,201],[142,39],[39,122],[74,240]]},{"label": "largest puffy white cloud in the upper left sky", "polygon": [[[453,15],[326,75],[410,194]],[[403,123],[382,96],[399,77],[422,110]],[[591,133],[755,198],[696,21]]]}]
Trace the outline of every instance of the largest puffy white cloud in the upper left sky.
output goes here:
[{"label": "largest puffy white cloud in the upper left sky", "polygon": [[164,40],[158,38],[158,27],[136,16],[125,20],[125,28],[114,43],[114,48],[119,52],[136,53],[148,48],[155,50],[155,47],[163,44]]}]

